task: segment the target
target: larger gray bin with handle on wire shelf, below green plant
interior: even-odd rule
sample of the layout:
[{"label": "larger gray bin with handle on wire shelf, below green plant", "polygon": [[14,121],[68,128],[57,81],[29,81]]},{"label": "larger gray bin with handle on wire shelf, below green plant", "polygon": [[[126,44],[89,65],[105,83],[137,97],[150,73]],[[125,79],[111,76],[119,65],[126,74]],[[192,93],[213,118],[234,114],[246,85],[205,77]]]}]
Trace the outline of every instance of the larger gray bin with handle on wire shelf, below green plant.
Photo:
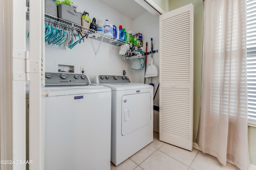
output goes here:
[{"label": "larger gray bin with handle on wire shelf, below green plant", "polygon": [[71,6],[66,4],[58,5],[58,18],[81,25],[81,15],[80,12],[75,12],[75,9]]}]

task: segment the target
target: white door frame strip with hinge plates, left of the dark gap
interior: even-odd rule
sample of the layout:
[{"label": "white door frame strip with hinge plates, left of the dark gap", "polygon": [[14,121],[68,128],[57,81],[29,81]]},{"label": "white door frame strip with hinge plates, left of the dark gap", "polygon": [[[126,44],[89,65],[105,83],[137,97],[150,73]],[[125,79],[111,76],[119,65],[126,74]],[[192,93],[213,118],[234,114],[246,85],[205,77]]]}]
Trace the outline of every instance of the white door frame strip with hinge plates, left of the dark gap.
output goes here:
[{"label": "white door frame strip with hinge plates, left of the dark gap", "polygon": [[12,72],[12,170],[26,170],[26,2],[10,1]]}]

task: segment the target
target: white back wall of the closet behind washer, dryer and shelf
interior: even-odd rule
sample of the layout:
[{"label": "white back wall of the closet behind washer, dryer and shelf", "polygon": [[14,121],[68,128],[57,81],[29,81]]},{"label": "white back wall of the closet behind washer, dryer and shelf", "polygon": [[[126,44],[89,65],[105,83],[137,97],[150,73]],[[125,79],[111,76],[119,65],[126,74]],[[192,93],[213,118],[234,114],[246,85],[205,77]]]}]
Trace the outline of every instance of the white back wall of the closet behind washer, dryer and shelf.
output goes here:
[{"label": "white back wall of the closet behind washer, dryer and shelf", "polygon": [[[127,30],[132,30],[132,20],[98,0],[76,0],[73,2],[82,11],[88,12],[91,19],[94,17],[96,20],[108,19],[117,27],[123,25]],[[93,82],[97,74],[122,75],[123,70],[126,70],[126,75],[132,82],[135,82],[136,74],[132,74],[132,61],[122,59],[122,56],[118,54],[120,47],[102,42],[97,55],[95,55],[99,44],[100,41],[88,38],[71,50],[62,46],[45,45],[46,72],[57,71],[55,65],[58,63],[75,65],[74,72],[76,73],[80,73],[80,66],[84,66],[85,74]]]}]

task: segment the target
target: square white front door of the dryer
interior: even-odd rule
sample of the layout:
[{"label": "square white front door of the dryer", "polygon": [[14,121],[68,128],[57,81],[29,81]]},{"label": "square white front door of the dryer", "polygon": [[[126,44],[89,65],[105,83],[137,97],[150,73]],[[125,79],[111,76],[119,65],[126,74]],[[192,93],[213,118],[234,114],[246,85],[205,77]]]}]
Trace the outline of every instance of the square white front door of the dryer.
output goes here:
[{"label": "square white front door of the dryer", "polygon": [[151,121],[150,93],[129,94],[122,97],[122,135],[148,125]]}]

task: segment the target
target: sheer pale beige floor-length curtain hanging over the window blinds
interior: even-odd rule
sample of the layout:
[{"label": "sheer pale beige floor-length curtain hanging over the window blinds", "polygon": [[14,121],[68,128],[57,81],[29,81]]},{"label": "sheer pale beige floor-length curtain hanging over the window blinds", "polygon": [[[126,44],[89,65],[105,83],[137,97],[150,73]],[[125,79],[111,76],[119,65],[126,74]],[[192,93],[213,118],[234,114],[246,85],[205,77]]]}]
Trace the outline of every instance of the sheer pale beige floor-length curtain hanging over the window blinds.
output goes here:
[{"label": "sheer pale beige floor-length curtain hanging over the window blinds", "polygon": [[202,96],[197,143],[241,170],[250,166],[246,0],[204,0]]}]

